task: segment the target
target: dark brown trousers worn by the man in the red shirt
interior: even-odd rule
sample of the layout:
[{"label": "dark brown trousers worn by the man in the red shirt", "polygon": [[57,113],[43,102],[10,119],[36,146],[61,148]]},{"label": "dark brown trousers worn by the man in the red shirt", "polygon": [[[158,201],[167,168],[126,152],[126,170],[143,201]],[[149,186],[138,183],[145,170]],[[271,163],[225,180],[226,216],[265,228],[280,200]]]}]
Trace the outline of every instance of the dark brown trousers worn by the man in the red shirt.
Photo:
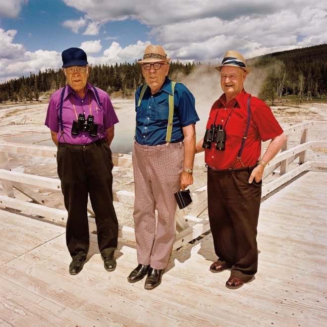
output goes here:
[{"label": "dark brown trousers worn by the man in the red shirt", "polygon": [[215,170],[208,167],[208,213],[219,261],[231,276],[249,281],[258,270],[257,226],[260,183],[248,183],[253,169]]}]

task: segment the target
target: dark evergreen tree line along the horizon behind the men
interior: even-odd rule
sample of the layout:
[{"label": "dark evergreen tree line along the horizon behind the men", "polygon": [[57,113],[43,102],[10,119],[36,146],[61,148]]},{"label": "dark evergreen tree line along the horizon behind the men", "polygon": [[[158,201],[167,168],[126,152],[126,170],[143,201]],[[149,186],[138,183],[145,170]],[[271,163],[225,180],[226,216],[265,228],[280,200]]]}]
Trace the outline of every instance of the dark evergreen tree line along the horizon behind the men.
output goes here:
[{"label": "dark evergreen tree line along the horizon behind the men", "polygon": [[[255,69],[267,71],[259,97],[264,101],[280,100],[293,96],[302,98],[322,98],[327,96],[327,45],[277,52],[261,55],[247,60]],[[190,74],[197,63],[170,63],[169,77],[176,80],[177,75]],[[209,63],[209,65],[211,65]],[[140,65],[120,63],[115,65],[91,65],[89,82],[108,94],[119,92],[122,97],[134,95],[143,83]],[[176,80],[178,81],[178,80]],[[66,84],[61,69],[46,69],[38,74],[22,76],[0,84],[0,103],[6,101],[39,101],[40,95],[53,93]]]}]

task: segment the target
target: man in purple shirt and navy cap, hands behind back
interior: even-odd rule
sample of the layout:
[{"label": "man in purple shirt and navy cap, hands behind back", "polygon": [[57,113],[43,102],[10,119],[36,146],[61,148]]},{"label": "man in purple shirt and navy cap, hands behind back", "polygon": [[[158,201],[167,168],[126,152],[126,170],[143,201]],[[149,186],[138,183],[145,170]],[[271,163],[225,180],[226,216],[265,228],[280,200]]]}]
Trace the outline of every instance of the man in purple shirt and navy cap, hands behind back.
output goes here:
[{"label": "man in purple shirt and navy cap, hands behind back", "polygon": [[98,245],[107,271],[116,268],[118,221],[112,203],[110,143],[118,118],[109,95],[88,83],[90,67],[79,48],[62,52],[67,86],[50,98],[45,125],[57,146],[57,171],[68,212],[66,244],[69,273],[79,273],[90,245],[87,203],[90,196]]}]

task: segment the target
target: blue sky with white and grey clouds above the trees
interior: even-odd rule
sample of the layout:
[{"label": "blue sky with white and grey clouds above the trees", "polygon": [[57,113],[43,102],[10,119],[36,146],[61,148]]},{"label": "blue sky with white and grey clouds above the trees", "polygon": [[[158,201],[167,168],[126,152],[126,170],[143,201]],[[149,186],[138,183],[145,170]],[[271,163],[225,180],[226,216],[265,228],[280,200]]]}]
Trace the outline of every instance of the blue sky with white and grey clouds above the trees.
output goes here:
[{"label": "blue sky with white and grey clouds above the trees", "polygon": [[327,0],[0,0],[0,83],[60,68],[82,48],[119,64],[160,44],[182,62],[221,62],[327,43]]}]

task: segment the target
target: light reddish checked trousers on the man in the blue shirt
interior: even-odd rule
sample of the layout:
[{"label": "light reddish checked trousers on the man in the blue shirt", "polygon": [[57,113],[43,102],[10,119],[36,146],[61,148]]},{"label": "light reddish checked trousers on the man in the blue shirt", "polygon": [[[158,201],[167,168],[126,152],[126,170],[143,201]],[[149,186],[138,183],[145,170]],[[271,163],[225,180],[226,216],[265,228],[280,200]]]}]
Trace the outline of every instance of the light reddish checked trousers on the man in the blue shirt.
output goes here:
[{"label": "light reddish checked trousers on the man in the blue shirt", "polygon": [[153,269],[164,269],[168,265],[175,238],[177,203],[174,193],[180,190],[183,161],[183,142],[170,143],[168,146],[134,144],[133,216],[137,261],[141,265],[150,265]]}]

